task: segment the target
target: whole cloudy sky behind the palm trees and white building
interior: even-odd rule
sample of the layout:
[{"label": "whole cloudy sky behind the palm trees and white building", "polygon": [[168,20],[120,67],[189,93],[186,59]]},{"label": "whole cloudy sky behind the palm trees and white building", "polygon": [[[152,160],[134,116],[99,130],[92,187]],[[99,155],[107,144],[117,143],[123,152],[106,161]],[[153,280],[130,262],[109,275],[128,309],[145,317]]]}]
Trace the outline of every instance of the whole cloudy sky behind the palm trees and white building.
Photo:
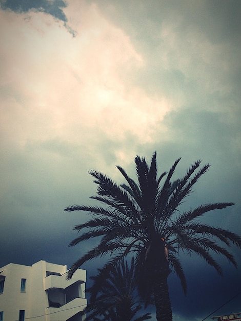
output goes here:
[{"label": "whole cloudy sky behind the palm trees and white building", "polygon": [[[1,267],[70,267],[92,246],[68,247],[87,215],[64,212],[91,204],[88,172],[124,183],[115,166],[134,177],[135,155],[154,151],[159,173],[182,157],[177,177],[209,163],[183,206],[233,202],[203,220],[241,235],[240,14],[239,0],[0,0]],[[171,274],[174,321],[202,321],[239,293],[230,251],[239,268],[217,257],[224,277],[181,257],[188,294]]]}]

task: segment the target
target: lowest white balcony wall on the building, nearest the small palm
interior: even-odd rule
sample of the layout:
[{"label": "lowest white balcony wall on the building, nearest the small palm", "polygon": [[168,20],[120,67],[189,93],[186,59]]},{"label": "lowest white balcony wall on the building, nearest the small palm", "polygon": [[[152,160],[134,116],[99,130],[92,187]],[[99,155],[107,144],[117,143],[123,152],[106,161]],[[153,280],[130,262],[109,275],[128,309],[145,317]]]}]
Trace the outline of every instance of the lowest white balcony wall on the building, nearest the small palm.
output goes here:
[{"label": "lowest white balcony wall on the building, nearest the small palm", "polygon": [[74,316],[78,312],[82,311],[87,305],[85,298],[76,297],[72,301],[64,304],[59,308],[49,307],[46,310],[47,321],[65,321]]}]

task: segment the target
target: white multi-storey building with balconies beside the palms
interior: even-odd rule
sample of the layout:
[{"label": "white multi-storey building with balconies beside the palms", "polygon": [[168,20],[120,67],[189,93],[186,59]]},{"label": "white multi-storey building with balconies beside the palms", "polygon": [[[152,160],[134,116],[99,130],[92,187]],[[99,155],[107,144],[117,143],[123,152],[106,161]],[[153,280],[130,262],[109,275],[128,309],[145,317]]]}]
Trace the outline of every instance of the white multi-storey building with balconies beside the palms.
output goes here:
[{"label": "white multi-storey building with balconies beside the palms", "polygon": [[82,321],[86,271],[78,269],[70,280],[66,272],[66,265],[43,260],[0,268],[0,321]]}]

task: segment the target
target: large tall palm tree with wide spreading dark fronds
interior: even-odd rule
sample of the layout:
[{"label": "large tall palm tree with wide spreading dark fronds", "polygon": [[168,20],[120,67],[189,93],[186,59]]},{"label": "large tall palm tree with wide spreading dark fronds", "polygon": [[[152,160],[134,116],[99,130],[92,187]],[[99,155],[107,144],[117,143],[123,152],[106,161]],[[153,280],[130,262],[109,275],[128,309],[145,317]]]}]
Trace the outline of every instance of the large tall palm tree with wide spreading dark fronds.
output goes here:
[{"label": "large tall palm tree with wide spreading dark fronds", "polygon": [[97,237],[98,240],[101,237],[97,246],[72,265],[68,278],[88,260],[111,254],[99,274],[101,280],[108,275],[113,265],[118,266],[131,253],[135,255],[139,293],[145,298],[146,304],[154,297],[158,321],[172,320],[167,283],[171,270],[180,278],[185,293],[187,290],[184,271],[178,258],[180,253],[196,253],[222,274],[222,268],[214,259],[213,253],[224,255],[237,267],[232,254],[220,244],[229,247],[232,243],[241,247],[241,237],[238,235],[197,221],[206,212],[225,209],[233,203],[205,204],[193,210],[180,210],[180,205],[191,193],[199,177],[207,172],[209,164],[201,167],[201,161],[197,160],[182,178],[172,181],[179,161],[180,158],[168,173],[158,176],[156,152],[150,166],[145,158],[136,156],[138,184],[119,166],[117,169],[127,184],[117,185],[110,177],[92,170],[90,174],[98,187],[97,195],[91,198],[101,202],[103,206],[74,205],[65,209],[87,211],[91,215],[88,222],[74,227],[81,235],[70,246],[92,237]]}]

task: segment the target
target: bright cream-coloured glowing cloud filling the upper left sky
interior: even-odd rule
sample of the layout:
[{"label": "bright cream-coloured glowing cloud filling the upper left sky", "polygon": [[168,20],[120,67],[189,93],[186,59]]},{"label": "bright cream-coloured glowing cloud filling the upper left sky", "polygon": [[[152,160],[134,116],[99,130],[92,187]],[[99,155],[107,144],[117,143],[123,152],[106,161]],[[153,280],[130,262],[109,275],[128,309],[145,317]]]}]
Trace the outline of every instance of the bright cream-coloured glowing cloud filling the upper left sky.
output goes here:
[{"label": "bright cream-coloured glowing cloud filling the upper left sky", "polygon": [[32,13],[30,21],[1,13],[3,135],[14,139],[17,133],[22,147],[60,137],[89,148],[96,130],[103,141],[123,142],[130,135],[137,142],[152,141],[171,100],[150,98],[134,85],[132,74],[145,62],[95,5],[82,8],[80,17],[74,6],[68,10],[75,38],[42,13]]}]

